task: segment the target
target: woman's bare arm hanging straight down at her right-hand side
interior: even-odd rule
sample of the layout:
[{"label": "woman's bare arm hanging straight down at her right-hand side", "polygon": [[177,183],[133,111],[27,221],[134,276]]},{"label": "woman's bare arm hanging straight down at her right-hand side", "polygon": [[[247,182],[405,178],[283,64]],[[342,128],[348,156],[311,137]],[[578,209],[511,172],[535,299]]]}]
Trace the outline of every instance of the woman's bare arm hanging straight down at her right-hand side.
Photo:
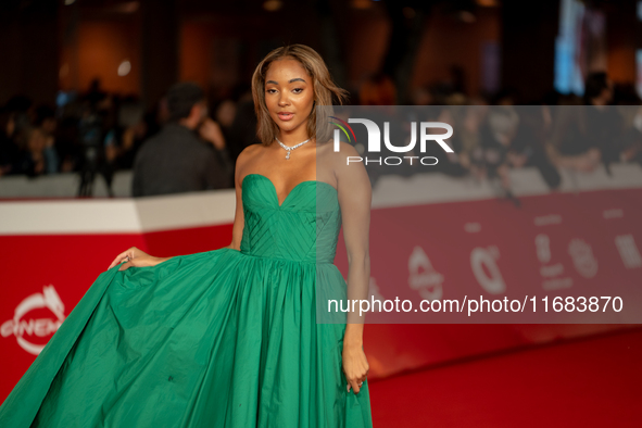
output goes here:
[{"label": "woman's bare arm hanging straight down at her right-hand side", "polygon": [[[372,187],[362,163],[347,165],[347,156],[358,156],[350,144],[341,144],[333,162],[341,206],[343,238],[348,251],[348,300],[367,300],[370,280],[369,227]],[[360,305],[356,305],[358,307]],[[365,315],[349,312],[343,338],[343,370],[354,393],[367,376],[369,366],[363,351]]]}]

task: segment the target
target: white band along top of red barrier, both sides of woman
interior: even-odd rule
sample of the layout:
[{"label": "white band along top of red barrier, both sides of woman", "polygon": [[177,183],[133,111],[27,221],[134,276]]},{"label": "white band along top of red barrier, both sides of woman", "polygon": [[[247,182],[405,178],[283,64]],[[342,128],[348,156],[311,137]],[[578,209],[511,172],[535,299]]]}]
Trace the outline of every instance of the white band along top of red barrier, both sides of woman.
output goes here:
[{"label": "white band along top of red barrier, both sides of woman", "polygon": [[[558,192],[642,187],[642,167],[615,164],[593,173],[562,172]],[[547,194],[536,168],[511,172],[516,197]],[[490,181],[442,174],[385,176],[373,190],[373,209],[493,199],[500,194]],[[7,201],[0,202],[0,235],[141,234],[230,224],[235,191],[209,190],[137,199]]]}]

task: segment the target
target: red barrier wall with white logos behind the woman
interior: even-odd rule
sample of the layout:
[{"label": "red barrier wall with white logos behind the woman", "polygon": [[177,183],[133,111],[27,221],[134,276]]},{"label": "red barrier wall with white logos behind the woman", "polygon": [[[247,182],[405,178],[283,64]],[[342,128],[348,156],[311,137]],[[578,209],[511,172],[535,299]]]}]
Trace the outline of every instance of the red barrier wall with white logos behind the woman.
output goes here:
[{"label": "red barrier wall with white logos behind the woman", "polygon": [[[149,200],[0,204],[0,218],[13,222],[9,226],[0,225],[3,373],[0,399],[9,394],[36,357],[37,348],[47,343],[58,324],[117,253],[136,246],[154,255],[167,256],[227,246],[234,211],[228,197],[204,192],[198,201],[193,196],[159,198],[153,201],[154,210],[139,206],[149,205]],[[207,215],[216,218],[193,215],[202,210],[203,201],[212,206],[205,210]],[[642,242],[640,201],[642,189],[614,189],[523,197],[520,207],[494,199],[376,207],[370,234],[372,276],[378,292],[386,298],[401,294],[416,298],[435,293],[440,287],[444,295],[456,287],[479,292],[479,278],[473,274],[469,261],[473,250],[484,248],[499,255],[496,266],[506,290],[541,290],[542,284],[551,279],[542,277],[541,267],[558,263],[564,266],[561,276],[571,278],[572,287],[591,284],[610,291],[625,286],[642,289],[642,267],[635,264],[631,247],[633,242],[637,251]],[[164,204],[167,210],[179,206],[179,212],[189,212],[193,218],[187,221],[185,214],[167,215]],[[163,215],[171,218],[165,227],[156,221]],[[172,227],[174,221],[180,227]],[[118,231],[118,227],[126,231]],[[538,235],[549,235],[549,255],[541,242],[536,241]],[[618,249],[615,241],[618,236],[631,236],[625,240],[628,255]],[[590,278],[586,272],[580,273],[581,267],[578,270],[577,261],[569,253],[572,239],[583,240],[592,250],[597,270]],[[421,248],[430,267],[421,263],[416,268],[408,265],[416,247]],[[336,263],[344,274],[345,260],[341,240]],[[591,263],[588,265],[590,270]],[[441,275],[441,281],[419,281],[424,286],[411,287],[413,278],[435,272]],[[484,272],[493,279],[488,269]],[[481,353],[626,327],[616,324],[368,325],[365,349],[370,378],[377,378]]]}]

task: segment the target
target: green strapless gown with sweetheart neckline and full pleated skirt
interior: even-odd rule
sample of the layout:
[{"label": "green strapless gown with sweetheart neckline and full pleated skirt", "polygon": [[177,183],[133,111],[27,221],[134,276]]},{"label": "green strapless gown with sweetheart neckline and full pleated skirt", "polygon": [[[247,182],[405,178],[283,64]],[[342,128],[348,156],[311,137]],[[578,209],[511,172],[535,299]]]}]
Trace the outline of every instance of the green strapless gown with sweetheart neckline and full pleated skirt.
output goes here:
[{"label": "green strapless gown with sweetheart neckline and full pleated skirt", "polygon": [[0,427],[372,427],[367,380],[347,391],[345,325],[316,323],[316,278],[345,287],[337,191],[303,181],[279,206],[250,174],[243,207],[241,251],[100,274]]}]

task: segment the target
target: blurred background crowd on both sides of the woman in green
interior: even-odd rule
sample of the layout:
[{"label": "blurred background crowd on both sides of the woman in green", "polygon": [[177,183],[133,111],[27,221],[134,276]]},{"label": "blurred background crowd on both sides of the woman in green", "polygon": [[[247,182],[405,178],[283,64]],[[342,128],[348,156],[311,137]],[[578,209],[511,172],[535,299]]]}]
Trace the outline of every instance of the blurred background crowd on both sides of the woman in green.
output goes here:
[{"label": "blurred background crowd on both sides of the woman in green", "polygon": [[[197,135],[212,150],[225,148],[234,165],[246,147],[257,142],[250,88],[219,90],[206,103],[207,129],[197,129]],[[435,167],[369,168],[374,181],[381,174],[440,172],[495,178],[509,190],[511,168],[534,166],[555,189],[561,167],[591,172],[600,165],[608,171],[614,162],[642,163],[642,101],[632,85],[614,86],[605,73],[588,76],[583,98],[551,91],[534,102],[509,88],[492,97],[470,97],[456,73],[404,99],[392,79],[376,75],[361,85],[351,103],[426,105],[421,119],[455,129],[448,140],[454,153],[444,158],[441,151]],[[146,110],[136,97],[101,90],[98,80],[86,93],[61,93],[56,104],[35,105],[16,96],[0,109],[0,179],[78,173],[90,186],[99,174],[111,188],[114,173],[131,169],[141,147],[171,116],[166,98]],[[568,108],[575,105],[587,108]]]}]

